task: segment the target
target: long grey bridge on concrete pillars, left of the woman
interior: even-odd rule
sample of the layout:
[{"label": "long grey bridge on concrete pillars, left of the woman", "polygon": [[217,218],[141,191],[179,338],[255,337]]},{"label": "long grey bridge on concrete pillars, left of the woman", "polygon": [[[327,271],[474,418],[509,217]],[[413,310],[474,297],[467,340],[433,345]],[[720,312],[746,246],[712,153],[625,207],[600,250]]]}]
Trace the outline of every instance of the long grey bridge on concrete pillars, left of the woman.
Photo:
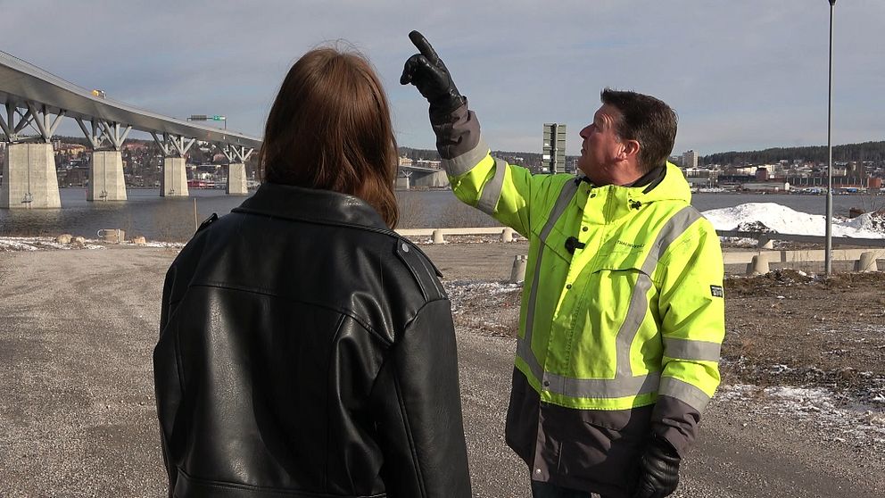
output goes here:
[{"label": "long grey bridge on concrete pillars, left of the woman", "polygon": [[[227,158],[227,193],[246,195],[245,161],[261,139],[197,125],[104,98],[29,62],[0,52],[0,142],[6,143],[0,209],[59,208],[51,139],[62,118],[77,121],[92,146],[89,201],[125,201],[120,152],[129,131],[149,133],[163,154],[161,196],[186,196],[185,154],[195,141]],[[22,131],[30,127],[36,137]]]}]

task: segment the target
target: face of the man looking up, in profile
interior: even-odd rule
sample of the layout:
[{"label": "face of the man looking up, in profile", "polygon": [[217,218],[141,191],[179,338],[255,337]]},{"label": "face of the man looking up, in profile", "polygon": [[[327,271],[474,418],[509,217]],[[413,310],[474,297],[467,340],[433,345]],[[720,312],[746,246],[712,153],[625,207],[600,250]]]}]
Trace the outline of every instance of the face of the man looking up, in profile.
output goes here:
[{"label": "face of the man looking up, in profile", "polygon": [[593,115],[593,122],[581,130],[581,157],[578,169],[597,185],[612,181],[618,156],[624,145],[615,133],[615,124],[621,120],[621,112],[613,105],[602,104]]}]

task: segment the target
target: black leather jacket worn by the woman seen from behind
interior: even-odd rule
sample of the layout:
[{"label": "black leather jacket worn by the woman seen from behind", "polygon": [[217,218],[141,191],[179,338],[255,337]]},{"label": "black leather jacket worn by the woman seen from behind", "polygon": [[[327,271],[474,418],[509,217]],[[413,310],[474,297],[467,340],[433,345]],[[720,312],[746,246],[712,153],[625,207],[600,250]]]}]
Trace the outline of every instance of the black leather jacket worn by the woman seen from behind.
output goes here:
[{"label": "black leather jacket worn by the woman seen from behind", "polygon": [[470,496],[448,297],[356,197],[266,183],[199,230],[153,366],[170,496]]}]

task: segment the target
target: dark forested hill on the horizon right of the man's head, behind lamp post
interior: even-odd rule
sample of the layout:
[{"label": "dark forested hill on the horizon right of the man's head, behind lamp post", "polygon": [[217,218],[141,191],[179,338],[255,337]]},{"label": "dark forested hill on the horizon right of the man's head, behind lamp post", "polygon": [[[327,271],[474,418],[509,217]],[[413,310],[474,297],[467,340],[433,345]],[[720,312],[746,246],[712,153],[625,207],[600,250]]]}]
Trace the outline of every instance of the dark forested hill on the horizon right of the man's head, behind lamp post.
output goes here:
[{"label": "dark forested hill on the horizon right of the man's head, behind lamp post", "polygon": [[[727,152],[701,156],[700,164],[772,164],[786,159],[812,162],[827,162],[827,147],[776,147],[763,151]],[[885,142],[864,142],[862,144],[835,145],[832,148],[833,162],[885,161]]]}]

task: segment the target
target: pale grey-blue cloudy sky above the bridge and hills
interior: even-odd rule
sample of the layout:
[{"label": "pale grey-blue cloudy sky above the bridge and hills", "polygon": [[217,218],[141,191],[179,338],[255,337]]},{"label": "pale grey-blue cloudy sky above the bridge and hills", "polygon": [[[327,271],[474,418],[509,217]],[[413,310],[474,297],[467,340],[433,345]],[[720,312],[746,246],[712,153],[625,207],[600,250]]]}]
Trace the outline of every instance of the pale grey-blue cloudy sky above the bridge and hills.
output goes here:
[{"label": "pale grey-blue cloudy sky above the bridge and hills", "polygon": [[[494,150],[540,153],[556,121],[579,154],[600,89],[615,87],[670,104],[674,154],[704,155],[827,143],[830,11],[827,0],[0,0],[0,50],[109,98],[179,119],[224,114],[261,137],[286,71],[344,40],[383,80],[399,145],[432,149],[426,102],[399,84],[418,29]],[[885,140],[885,0],[839,0],[833,20],[832,143]],[[61,133],[79,135],[66,121]]]}]

